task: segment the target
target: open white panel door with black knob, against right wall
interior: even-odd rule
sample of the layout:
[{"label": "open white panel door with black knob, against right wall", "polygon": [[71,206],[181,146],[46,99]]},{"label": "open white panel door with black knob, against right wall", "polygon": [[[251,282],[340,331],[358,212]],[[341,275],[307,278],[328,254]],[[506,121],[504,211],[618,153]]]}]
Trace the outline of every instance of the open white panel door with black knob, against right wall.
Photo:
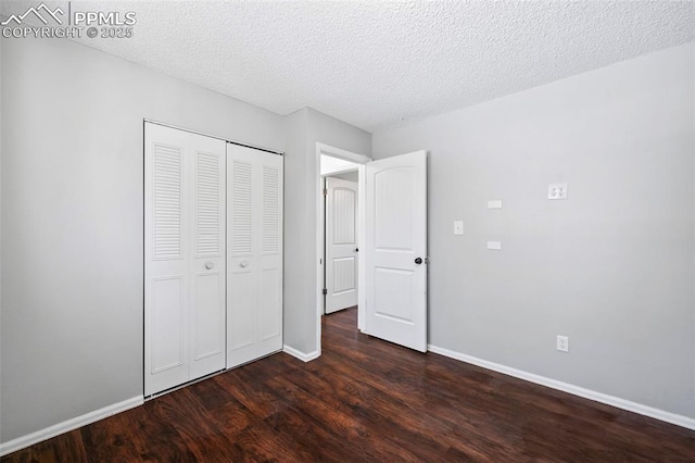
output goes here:
[{"label": "open white panel door with black knob, against right wall", "polygon": [[366,164],[365,331],[427,351],[427,153]]}]

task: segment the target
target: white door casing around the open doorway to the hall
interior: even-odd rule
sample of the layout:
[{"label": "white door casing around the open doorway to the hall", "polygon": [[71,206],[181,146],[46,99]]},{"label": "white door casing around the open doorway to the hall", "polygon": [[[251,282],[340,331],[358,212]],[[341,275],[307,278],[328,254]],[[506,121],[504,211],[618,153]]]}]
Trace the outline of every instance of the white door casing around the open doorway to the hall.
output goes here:
[{"label": "white door casing around the open doorway to the hall", "polygon": [[[316,262],[316,287],[315,287],[315,290],[316,290],[316,351],[308,354],[309,356],[315,355],[309,360],[313,360],[321,354],[321,316],[324,316],[324,295],[321,293],[321,289],[324,288],[324,264],[321,263],[324,259],[324,208],[321,207],[323,191],[324,191],[324,185],[323,185],[324,177],[321,177],[321,154],[330,155],[333,158],[340,158],[345,161],[351,161],[356,164],[361,164],[358,166],[359,172],[364,172],[364,164],[371,161],[371,158],[366,157],[364,154],[354,153],[354,152],[331,147],[329,145],[321,143],[321,142],[316,143],[316,171],[314,172],[314,178],[316,178],[316,193],[315,193],[316,209],[314,211],[314,215],[316,217],[316,254],[315,254],[315,259],[316,259],[315,260]],[[363,198],[363,195],[362,195],[362,190],[364,189],[364,184],[362,184],[362,182],[364,180],[363,175],[361,175],[359,180],[361,180],[359,187],[358,187],[359,192],[357,195],[359,196],[359,198]],[[364,211],[365,209],[364,203],[359,203],[357,208],[359,211]],[[359,213],[362,214],[362,212]],[[364,230],[363,230],[364,225],[361,225],[359,228],[361,230],[358,233],[358,239],[362,239],[364,234]],[[362,246],[362,241],[359,242],[359,246]],[[364,259],[358,260],[358,265],[359,265],[359,270],[357,271],[358,276],[361,272],[364,271],[364,268],[361,265]],[[357,281],[357,285],[359,285],[359,281]],[[357,295],[358,308],[364,305],[362,300],[363,292],[364,291],[359,291],[359,293]],[[358,309],[358,314],[357,314],[358,323],[361,320],[361,316],[359,316],[361,313],[362,312],[359,312],[359,309]],[[291,355],[294,355],[289,351],[287,352],[290,353]],[[294,351],[294,352],[298,352],[298,351]],[[300,355],[304,355],[301,352],[299,353]],[[298,356],[298,355],[294,355],[294,356],[296,356],[300,360],[304,360],[303,356]],[[308,360],[305,360],[305,362],[308,362]]]}]

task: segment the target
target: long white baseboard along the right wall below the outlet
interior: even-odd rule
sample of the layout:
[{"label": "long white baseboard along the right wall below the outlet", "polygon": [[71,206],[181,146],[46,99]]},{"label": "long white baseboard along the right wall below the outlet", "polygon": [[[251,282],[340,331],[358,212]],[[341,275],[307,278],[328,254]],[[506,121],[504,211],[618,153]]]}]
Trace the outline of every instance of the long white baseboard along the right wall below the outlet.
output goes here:
[{"label": "long white baseboard along the right wall below the outlet", "polygon": [[476,356],[467,355],[460,352],[455,352],[455,351],[440,348],[437,346],[428,345],[427,348],[430,352],[438,353],[440,355],[448,356],[451,359],[455,359],[462,362],[470,363],[472,365],[481,366],[486,370],[492,370],[493,372],[514,376],[515,378],[523,379],[530,383],[535,383],[538,385],[549,387],[552,389],[561,390],[564,392],[568,392],[573,396],[583,397],[584,399],[593,400],[595,402],[605,403],[607,405],[611,405],[617,409],[627,410],[628,412],[633,412],[640,415],[649,416],[666,423],[671,423],[677,426],[682,426],[684,428],[695,430],[695,418],[679,415],[677,413],[667,412],[660,409],[655,409],[649,405],[632,402],[630,400],[621,399],[615,396],[609,396],[603,392],[597,392],[595,390],[585,389],[583,387],[574,386],[568,383],[558,381],[556,379],[552,379],[545,376],[525,372],[522,370],[516,370],[510,366],[505,366],[498,363],[489,362],[486,360],[478,359]]}]

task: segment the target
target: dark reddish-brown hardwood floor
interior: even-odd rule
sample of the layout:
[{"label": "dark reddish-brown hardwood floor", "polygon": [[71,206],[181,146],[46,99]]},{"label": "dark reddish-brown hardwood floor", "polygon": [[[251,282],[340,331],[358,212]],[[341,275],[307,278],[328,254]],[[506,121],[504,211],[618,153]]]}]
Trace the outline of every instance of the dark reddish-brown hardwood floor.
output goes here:
[{"label": "dark reddish-brown hardwood floor", "polygon": [[324,354],[220,374],[5,462],[692,461],[695,431],[324,317]]}]

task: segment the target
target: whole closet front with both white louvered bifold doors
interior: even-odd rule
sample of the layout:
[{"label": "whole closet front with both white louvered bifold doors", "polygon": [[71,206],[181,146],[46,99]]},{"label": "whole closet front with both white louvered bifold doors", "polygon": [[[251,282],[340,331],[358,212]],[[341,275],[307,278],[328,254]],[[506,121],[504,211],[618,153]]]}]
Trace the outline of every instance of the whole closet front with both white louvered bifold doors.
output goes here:
[{"label": "whole closet front with both white louvered bifold doors", "polygon": [[144,124],[144,396],[282,348],[282,157]]}]

